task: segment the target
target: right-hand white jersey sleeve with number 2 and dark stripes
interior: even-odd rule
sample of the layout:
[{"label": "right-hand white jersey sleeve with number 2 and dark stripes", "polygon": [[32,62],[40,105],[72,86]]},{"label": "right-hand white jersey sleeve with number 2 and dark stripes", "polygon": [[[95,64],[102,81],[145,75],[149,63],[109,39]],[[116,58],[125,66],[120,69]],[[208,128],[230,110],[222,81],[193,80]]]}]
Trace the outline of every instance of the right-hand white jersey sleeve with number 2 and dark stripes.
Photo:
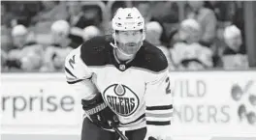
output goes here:
[{"label": "right-hand white jersey sleeve with number 2 and dark stripes", "polygon": [[148,134],[168,135],[173,116],[172,89],[169,70],[154,73],[146,83],[145,115]]}]

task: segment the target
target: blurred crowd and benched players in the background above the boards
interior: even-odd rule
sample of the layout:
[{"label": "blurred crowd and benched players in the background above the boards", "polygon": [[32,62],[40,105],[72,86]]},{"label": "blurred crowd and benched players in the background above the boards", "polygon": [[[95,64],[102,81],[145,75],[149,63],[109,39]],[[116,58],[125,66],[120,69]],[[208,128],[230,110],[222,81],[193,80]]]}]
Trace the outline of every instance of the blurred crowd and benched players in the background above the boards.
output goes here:
[{"label": "blurred crowd and benched players in the background above the boards", "polygon": [[[176,2],[132,3],[144,15],[145,40],[164,52],[170,70],[248,69],[242,2],[184,3],[182,20]],[[111,15],[120,6],[114,3]],[[72,49],[108,34],[102,13],[80,1],[1,2],[1,70],[63,70]]]}]

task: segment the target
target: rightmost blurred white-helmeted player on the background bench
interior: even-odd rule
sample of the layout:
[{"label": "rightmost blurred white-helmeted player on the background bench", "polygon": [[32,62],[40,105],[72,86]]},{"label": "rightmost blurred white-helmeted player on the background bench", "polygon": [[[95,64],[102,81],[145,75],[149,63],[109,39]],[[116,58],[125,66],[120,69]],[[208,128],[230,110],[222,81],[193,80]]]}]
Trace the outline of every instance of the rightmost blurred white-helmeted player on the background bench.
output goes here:
[{"label": "rightmost blurred white-helmeted player on the background bench", "polygon": [[227,44],[222,56],[224,69],[247,69],[248,58],[244,49],[242,49],[241,33],[236,25],[225,28],[224,41]]}]

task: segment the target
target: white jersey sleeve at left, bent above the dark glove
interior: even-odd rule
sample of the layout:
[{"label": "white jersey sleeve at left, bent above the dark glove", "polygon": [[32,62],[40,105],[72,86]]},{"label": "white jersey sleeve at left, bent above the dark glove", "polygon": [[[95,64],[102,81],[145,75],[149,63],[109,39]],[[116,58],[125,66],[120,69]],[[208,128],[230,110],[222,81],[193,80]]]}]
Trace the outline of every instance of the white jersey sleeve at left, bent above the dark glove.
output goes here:
[{"label": "white jersey sleeve at left, bent above the dark glove", "polygon": [[92,79],[94,73],[80,58],[80,47],[71,51],[65,60],[66,80],[71,87],[80,94],[80,98],[90,99],[95,97],[97,88]]}]

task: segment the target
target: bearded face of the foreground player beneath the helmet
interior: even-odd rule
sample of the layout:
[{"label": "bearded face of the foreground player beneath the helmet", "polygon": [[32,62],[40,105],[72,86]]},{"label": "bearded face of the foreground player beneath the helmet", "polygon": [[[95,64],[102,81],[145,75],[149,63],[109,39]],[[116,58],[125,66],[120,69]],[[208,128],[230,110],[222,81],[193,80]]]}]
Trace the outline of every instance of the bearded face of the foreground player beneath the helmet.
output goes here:
[{"label": "bearded face of the foreground player beneath the helmet", "polygon": [[143,41],[142,31],[118,31],[116,33],[117,46],[127,54],[135,54]]}]

